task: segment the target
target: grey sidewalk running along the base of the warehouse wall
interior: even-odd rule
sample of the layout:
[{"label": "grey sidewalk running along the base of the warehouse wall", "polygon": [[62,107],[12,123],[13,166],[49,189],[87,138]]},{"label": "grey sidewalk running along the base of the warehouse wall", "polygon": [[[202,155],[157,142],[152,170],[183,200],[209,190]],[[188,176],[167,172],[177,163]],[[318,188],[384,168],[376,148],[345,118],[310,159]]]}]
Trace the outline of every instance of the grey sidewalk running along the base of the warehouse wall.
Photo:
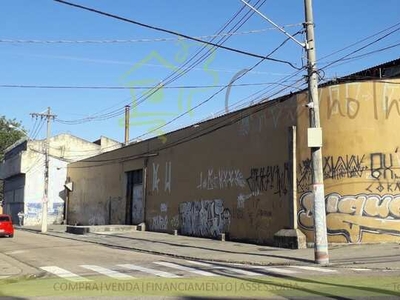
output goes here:
[{"label": "grey sidewalk running along the base of the warehouse wall", "polygon": [[[40,226],[17,230],[40,233]],[[269,246],[174,236],[149,231],[104,232],[75,235],[65,225],[49,225],[47,235],[191,260],[260,264],[305,265],[314,263],[314,249],[282,249]],[[17,232],[18,234],[18,232]],[[333,245],[330,267],[400,270],[400,244]]]}]

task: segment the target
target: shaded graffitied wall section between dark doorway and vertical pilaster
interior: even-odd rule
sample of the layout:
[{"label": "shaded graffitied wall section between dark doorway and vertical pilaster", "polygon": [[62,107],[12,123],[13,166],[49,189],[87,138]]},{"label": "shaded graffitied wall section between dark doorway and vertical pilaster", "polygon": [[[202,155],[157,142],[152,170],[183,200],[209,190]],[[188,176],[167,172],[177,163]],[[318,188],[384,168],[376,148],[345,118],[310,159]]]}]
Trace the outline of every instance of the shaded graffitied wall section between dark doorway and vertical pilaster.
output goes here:
[{"label": "shaded graffitied wall section between dark doorway and vertical pilaster", "polygon": [[[148,227],[194,236],[229,233],[231,239],[271,243],[290,223],[288,127],[295,121],[294,100],[218,121],[225,125],[244,116],[151,158]],[[204,123],[198,130],[212,128]]]}]

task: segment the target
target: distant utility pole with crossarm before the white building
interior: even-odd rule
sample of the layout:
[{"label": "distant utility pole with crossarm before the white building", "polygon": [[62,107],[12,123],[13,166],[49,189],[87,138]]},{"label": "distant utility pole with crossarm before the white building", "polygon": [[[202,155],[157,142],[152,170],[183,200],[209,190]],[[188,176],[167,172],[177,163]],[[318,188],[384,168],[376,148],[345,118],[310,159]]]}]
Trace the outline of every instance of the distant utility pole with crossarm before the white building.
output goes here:
[{"label": "distant utility pole with crossarm before the white building", "polygon": [[49,203],[49,152],[50,152],[50,120],[56,117],[51,114],[50,107],[47,108],[46,113],[31,113],[32,117],[46,119],[47,122],[47,135],[44,148],[45,163],[44,163],[44,197],[42,203],[42,232],[47,232],[47,214]]}]

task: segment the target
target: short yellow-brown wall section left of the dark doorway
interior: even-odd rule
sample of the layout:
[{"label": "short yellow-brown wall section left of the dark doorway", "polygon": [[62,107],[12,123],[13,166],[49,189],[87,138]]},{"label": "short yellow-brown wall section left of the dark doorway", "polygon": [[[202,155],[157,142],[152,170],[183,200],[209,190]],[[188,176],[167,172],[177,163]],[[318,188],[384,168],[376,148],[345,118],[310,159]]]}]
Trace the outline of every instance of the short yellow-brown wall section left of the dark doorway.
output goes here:
[{"label": "short yellow-brown wall section left of the dark doorway", "polygon": [[124,147],[68,166],[73,182],[68,224],[125,224],[126,172],[144,167],[143,158],[126,159],[136,155],[134,149],[137,153],[146,152],[147,144]]}]

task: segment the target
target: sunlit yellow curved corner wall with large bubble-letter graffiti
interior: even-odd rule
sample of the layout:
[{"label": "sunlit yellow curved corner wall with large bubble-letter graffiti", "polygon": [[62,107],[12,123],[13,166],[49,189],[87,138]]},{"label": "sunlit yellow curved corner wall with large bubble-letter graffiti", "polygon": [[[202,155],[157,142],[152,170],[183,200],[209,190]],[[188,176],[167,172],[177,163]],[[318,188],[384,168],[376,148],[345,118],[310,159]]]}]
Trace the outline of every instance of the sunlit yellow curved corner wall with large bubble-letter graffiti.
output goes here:
[{"label": "sunlit yellow curved corner wall with large bubble-letter graffiti", "polygon": [[[399,80],[320,89],[330,242],[400,240]],[[305,103],[301,99],[300,106]],[[308,126],[299,115],[299,132]],[[299,134],[299,226],[313,240],[311,167]]]}]

